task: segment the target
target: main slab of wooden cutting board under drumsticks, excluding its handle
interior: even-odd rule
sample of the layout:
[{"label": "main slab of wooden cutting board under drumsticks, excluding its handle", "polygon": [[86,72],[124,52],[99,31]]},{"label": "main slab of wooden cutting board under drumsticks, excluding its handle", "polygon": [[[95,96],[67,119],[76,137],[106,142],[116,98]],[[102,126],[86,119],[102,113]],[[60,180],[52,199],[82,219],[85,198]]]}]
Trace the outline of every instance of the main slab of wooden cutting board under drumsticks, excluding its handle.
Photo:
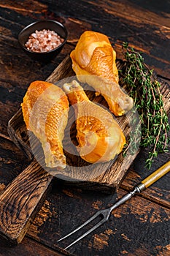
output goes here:
[{"label": "main slab of wooden cutting board under drumsticks, excluding its handle", "polygon": [[[117,61],[117,66],[121,69],[123,63],[121,64],[120,61]],[[69,78],[69,81],[72,81],[75,78],[75,74],[72,70],[72,61],[69,56],[67,56],[66,59],[64,59],[63,62],[55,69],[47,81],[50,83],[57,83],[58,80],[61,80],[61,83],[57,83],[57,85],[63,86],[63,83],[67,82],[64,78]],[[87,84],[83,84],[82,86],[90,100],[100,103],[101,105],[104,105],[104,107],[108,108],[107,102],[102,96],[96,97],[95,91]],[[130,118],[130,113],[126,116],[116,118],[120,127],[123,129],[126,138],[128,138],[131,131],[131,125],[129,124]],[[28,136],[28,131],[26,130],[26,125],[23,121],[21,109],[18,110],[18,113],[16,113],[9,121],[8,132],[12,140],[25,152],[29,159],[32,159],[33,157],[32,151],[42,151],[39,140],[37,140],[32,134],[29,134]],[[69,139],[69,136],[72,141]],[[30,139],[31,146],[29,143]],[[63,178],[66,182],[72,181],[70,184],[86,187],[87,189],[98,189],[104,192],[114,192],[115,189],[117,189],[125,176],[126,171],[138,153],[138,151],[136,151],[134,155],[128,154],[126,157],[123,157],[123,154],[119,154],[119,156],[113,161],[90,165],[77,155],[76,146],[73,147],[73,144],[73,153],[69,153],[70,142],[73,142],[74,144],[77,143],[76,125],[74,123],[74,113],[72,110],[69,111],[69,121],[66,127],[65,137],[63,139],[63,149],[64,154],[66,155],[67,167],[66,170],[58,170],[58,177]]]}]

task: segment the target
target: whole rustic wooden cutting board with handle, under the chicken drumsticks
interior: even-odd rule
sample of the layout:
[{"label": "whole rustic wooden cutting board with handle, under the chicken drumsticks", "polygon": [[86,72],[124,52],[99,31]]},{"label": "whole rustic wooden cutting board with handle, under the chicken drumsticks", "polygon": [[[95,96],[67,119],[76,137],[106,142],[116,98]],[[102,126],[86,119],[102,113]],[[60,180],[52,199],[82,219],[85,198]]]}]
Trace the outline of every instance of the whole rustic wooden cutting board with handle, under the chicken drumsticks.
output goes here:
[{"label": "whole rustic wooden cutting board with handle, under the chicken drumsticks", "polygon": [[[123,65],[123,62],[117,61],[118,69],[122,69]],[[56,83],[58,80],[72,76],[74,76],[72,61],[68,56],[54,70],[47,81]],[[107,106],[104,98],[101,96],[96,97],[89,86],[84,85],[84,88],[90,100]],[[169,109],[169,89],[163,84],[161,90],[163,90],[166,109]],[[117,118],[117,122],[123,129],[126,138],[128,138],[131,131],[129,118],[131,118],[131,116]],[[72,121],[72,114],[69,116],[69,120]],[[69,127],[66,129],[69,129]],[[23,170],[23,172],[9,184],[4,193],[0,195],[0,234],[4,236],[4,238],[7,238],[8,241],[18,244],[22,241],[47,191],[50,189],[53,175],[47,173],[39,163],[36,162],[36,159],[34,159],[21,109],[18,110],[18,113],[9,121],[8,132],[15,144],[24,151],[31,160],[31,164]],[[73,124],[70,131],[70,136],[73,140],[75,135],[76,129],[75,124]],[[41,150],[39,141],[34,138],[34,135],[32,136],[35,148]],[[67,141],[67,138],[65,138],[63,143],[67,144]],[[96,165],[89,165],[79,156],[74,156],[68,152],[65,152],[65,154],[68,167],[66,173],[59,173],[58,178],[63,178],[69,185],[72,184],[84,189],[95,189],[101,192],[112,193],[120,186],[125,173],[127,173],[138,151],[136,151],[134,155],[128,154],[126,157],[120,154],[115,161]],[[87,172],[83,173],[77,171],[77,166],[88,166],[88,174]],[[71,173],[69,178],[67,178],[68,172]]]}]

